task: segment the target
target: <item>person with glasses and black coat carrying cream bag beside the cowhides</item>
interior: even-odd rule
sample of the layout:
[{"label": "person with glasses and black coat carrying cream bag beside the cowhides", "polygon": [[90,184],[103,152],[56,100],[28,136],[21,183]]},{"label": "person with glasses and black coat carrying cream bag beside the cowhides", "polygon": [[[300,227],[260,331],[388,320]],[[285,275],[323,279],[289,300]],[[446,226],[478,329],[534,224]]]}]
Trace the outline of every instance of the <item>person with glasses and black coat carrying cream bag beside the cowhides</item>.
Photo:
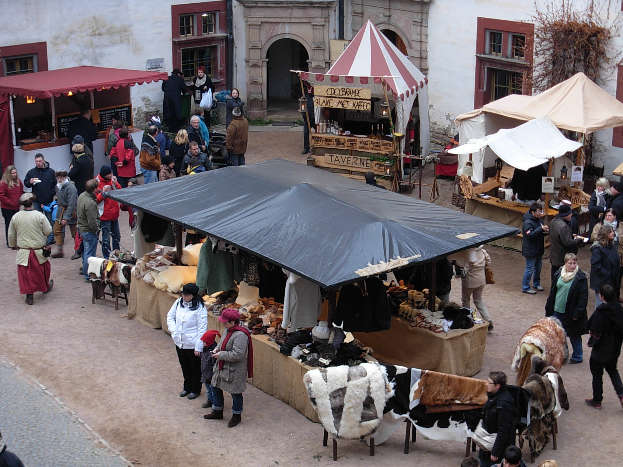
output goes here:
[{"label": "person with glasses and black coat carrying cream bag beside the cowhides", "polygon": [[490,467],[500,460],[507,446],[515,446],[515,400],[506,389],[506,374],[492,371],[487,379],[487,402],[482,408],[482,426],[495,433],[491,452],[480,449],[480,465]]}]

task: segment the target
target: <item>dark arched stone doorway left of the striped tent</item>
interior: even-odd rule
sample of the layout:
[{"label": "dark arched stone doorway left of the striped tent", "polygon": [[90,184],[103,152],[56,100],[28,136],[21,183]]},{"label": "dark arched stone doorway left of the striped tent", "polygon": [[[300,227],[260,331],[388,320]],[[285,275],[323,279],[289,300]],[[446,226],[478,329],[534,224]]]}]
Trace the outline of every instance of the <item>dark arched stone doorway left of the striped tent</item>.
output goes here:
[{"label": "dark arched stone doorway left of the striped tent", "polygon": [[295,39],[279,39],[270,45],[267,63],[267,110],[269,116],[297,116],[297,100],[301,86],[296,73],[290,70],[308,70],[307,49]]}]

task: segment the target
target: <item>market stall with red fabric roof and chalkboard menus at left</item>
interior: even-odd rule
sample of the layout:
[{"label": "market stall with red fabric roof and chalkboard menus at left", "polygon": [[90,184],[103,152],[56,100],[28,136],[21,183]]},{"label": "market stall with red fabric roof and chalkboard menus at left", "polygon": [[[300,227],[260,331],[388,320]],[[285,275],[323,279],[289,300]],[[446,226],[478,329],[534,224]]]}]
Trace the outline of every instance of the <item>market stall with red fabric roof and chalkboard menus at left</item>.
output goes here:
[{"label": "market stall with red fabric roof and chalkboard menus at left", "polygon": [[[73,67],[0,78],[0,96],[9,98],[9,112],[0,119],[2,165],[14,165],[19,174],[32,168],[34,155],[44,154],[50,167],[69,167],[69,124],[83,108],[91,109],[99,139],[93,141],[95,166],[107,161],[103,136],[118,115],[128,123],[140,146],[143,130],[133,129],[130,87],[166,80],[167,74],[102,67]],[[138,158],[137,158],[138,163]]]}]

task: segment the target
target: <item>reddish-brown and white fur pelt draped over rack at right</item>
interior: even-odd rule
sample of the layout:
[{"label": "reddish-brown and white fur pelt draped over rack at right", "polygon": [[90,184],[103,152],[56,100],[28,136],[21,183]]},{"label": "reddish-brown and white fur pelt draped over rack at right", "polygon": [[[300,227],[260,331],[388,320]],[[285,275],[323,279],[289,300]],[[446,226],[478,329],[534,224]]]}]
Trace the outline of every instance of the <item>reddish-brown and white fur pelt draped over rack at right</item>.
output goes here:
[{"label": "reddish-brown and white fur pelt draped over rack at right", "polygon": [[[515,355],[511,368],[517,371],[521,365],[521,359],[525,357],[522,352],[522,344],[533,344],[541,351],[541,359],[560,371],[563,363],[569,357],[569,349],[564,334],[563,326],[556,318],[541,318],[530,326],[515,348]],[[523,355],[522,355],[523,353]]]}]

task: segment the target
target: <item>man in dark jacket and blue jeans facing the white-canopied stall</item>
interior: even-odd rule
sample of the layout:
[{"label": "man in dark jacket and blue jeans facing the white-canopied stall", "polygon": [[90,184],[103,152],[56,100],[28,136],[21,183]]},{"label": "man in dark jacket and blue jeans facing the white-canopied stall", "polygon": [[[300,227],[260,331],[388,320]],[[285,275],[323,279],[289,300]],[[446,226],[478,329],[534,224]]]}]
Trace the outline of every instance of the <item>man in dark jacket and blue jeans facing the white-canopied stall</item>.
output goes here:
[{"label": "man in dark jacket and blue jeans facing the white-canopied stall", "polygon": [[[543,252],[545,252],[545,235],[549,233],[548,225],[543,225],[541,217],[543,208],[539,203],[532,203],[528,212],[523,215],[521,226],[521,256],[526,258],[526,269],[523,272],[521,291],[535,295],[536,290],[542,292],[541,267],[543,267]],[[535,289],[530,288],[530,280],[533,279]]]}]

